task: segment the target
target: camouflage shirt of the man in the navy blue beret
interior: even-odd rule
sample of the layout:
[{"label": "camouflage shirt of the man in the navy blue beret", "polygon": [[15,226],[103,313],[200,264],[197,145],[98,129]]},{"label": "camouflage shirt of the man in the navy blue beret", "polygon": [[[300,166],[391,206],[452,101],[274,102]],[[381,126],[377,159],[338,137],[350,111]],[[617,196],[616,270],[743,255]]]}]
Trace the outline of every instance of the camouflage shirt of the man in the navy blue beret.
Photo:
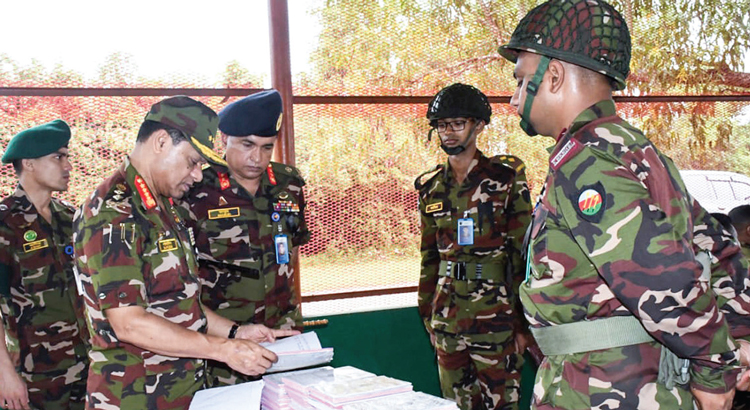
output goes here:
[{"label": "camouflage shirt of the man in the navy blue beret", "polygon": [[[255,196],[227,173],[213,168],[177,204],[193,228],[203,303],[238,323],[301,329],[302,314],[291,263],[276,263],[274,236],[289,247],[307,243],[304,180],[297,169],[272,162]],[[223,369],[223,370],[222,370]],[[209,384],[251,380],[222,363],[209,366]]]}]

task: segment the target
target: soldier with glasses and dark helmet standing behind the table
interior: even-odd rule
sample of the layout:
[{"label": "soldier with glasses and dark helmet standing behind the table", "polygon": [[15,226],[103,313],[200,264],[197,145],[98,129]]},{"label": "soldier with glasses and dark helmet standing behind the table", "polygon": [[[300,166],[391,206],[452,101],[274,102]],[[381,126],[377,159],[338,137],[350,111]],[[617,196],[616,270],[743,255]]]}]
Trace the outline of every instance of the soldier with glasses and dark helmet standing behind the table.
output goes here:
[{"label": "soldier with glasses and dark helmet standing behind the table", "polygon": [[422,225],[419,313],[437,351],[443,395],[461,409],[518,407],[528,339],[516,289],[523,280],[529,189],[520,159],[487,158],[477,149],[491,114],[487,97],[472,86],[441,90],[427,118],[448,161],[415,182]]}]

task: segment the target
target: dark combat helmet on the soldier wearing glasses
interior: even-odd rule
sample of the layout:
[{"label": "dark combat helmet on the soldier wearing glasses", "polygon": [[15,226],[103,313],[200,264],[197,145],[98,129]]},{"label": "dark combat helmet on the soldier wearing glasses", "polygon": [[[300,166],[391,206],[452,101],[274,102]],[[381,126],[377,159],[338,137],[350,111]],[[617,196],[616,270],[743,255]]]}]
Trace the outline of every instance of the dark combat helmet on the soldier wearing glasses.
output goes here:
[{"label": "dark combat helmet on the soldier wearing glasses", "polygon": [[487,96],[470,85],[455,83],[440,90],[427,105],[427,119],[434,127],[441,118],[479,118],[490,123],[492,108]]}]

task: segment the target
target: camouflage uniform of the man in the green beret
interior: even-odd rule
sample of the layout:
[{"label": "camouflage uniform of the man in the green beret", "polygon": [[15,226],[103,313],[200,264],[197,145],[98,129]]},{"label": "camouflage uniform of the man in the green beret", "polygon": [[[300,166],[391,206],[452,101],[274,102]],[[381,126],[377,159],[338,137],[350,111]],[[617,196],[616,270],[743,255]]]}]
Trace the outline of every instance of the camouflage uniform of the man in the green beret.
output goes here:
[{"label": "camouflage uniform of the man in the green beret", "polygon": [[82,409],[88,332],[73,275],[73,209],[53,198],[50,210],[48,223],[20,185],[0,202],[0,275],[10,276],[0,309],[32,405]]}]

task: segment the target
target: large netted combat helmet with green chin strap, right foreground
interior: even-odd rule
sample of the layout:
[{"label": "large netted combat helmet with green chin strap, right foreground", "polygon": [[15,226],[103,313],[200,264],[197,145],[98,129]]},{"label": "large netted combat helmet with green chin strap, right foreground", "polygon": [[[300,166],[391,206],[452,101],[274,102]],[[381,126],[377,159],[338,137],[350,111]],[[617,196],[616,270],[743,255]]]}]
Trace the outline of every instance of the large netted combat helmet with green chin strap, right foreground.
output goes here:
[{"label": "large netted combat helmet with green chin strap, right foreground", "polygon": [[514,63],[520,51],[542,56],[527,86],[521,120],[524,131],[536,135],[528,116],[550,59],[602,73],[614,80],[615,89],[622,90],[630,73],[630,50],[627,23],[602,0],[550,0],[532,9],[518,23],[508,44],[498,49],[500,55]]}]

